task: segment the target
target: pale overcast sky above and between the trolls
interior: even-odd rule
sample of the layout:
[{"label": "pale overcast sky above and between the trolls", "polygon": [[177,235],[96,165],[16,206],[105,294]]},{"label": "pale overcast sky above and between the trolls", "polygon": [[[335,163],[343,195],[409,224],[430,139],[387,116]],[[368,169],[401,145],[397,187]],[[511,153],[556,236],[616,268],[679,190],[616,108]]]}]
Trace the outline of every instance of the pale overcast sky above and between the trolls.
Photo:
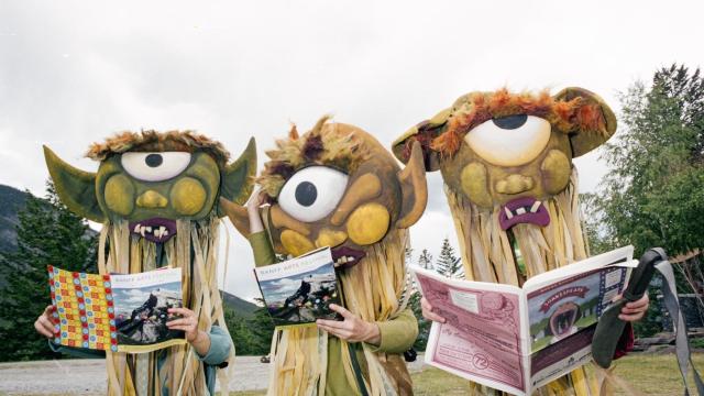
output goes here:
[{"label": "pale overcast sky above and between the trolls", "polygon": [[[473,90],[618,91],[674,62],[704,65],[696,1],[0,2],[0,184],[44,194],[42,144],[86,170],[114,132],[194,129],[234,156],[290,122],[332,113],[385,146]],[[575,164],[582,191],[607,166]],[[441,193],[411,229],[418,253],[457,246]],[[230,233],[224,288],[258,295],[245,240]],[[224,245],[224,241],[223,241]],[[224,251],[224,248],[223,248]]]}]

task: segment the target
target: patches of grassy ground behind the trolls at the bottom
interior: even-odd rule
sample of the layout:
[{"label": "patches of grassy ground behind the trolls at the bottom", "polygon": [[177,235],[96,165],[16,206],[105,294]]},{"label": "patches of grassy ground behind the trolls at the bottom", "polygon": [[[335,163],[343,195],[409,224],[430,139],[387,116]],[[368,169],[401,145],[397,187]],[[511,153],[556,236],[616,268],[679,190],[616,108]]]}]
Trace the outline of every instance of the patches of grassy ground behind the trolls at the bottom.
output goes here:
[{"label": "patches of grassy ground behind the trolls at the bottom", "polygon": [[[694,364],[704,370],[704,353],[694,354]],[[674,354],[630,354],[619,359],[614,373],[635,389],[646,395],[682,395],[683,385]],[[417,396],[460,396],[468,395],[468,382],[437,369],[428,367],[413,375],[414,391]],[[264,392],[240,392],[238,396],[260,396]],[[616,389],[616,395],[626,395]]]}]

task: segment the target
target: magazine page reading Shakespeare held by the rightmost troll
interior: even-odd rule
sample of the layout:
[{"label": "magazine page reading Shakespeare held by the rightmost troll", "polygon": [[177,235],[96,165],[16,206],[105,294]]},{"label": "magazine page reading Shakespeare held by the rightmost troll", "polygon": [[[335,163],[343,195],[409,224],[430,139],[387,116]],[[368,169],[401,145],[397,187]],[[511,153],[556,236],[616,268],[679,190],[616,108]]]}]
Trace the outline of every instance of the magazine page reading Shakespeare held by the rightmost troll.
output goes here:
[{"label": "magazine page reading Shakespeare held by the rightmost troll", "polygon": [[[625,289],[630,266],[637,264],[631,254],[630,248],[619,249],[570,265],[574,268],[568,273],[579,270],[578,275],[550,284],[526,282],[531,386],[541,386],[591,360],[596,322]],[[536,284],[542,286],[536,288]]]}]

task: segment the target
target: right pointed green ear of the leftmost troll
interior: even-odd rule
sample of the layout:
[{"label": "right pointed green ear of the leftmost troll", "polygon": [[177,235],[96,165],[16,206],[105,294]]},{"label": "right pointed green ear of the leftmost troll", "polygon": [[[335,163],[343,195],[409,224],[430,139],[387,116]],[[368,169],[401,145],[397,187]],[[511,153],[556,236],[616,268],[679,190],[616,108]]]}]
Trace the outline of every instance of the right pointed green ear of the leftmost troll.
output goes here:
[{"label": "right pointed green ear of the leftmost troll", "polygon": [[[226,166],[222,172],[220,197],[237,206],[244,204],[250,197],[250,194],[252,194],[255,174],[256,142],[254,138],[252,138],[242,155],[240,155],[235,162]],[[220,202],[222,202],[222,200]],[[219,206],[218,216],[223,217],[226,215],[228,213],[223,211],[222,206]]]}]

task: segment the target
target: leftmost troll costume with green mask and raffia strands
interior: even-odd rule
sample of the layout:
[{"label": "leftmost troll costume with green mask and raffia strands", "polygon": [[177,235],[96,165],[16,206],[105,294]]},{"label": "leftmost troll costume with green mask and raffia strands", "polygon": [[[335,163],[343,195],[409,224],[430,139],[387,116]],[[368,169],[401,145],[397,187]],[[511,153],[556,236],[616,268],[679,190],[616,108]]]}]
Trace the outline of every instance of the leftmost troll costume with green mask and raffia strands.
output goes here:
[{"label": "leftmost troll costume with green mask and raffia strands", "polygon": [[[206,356],[190,344],[141,354],[108,351],[108,394],[211,394],[216,366],[234,358],[217,284],[223,216],[218,198],[241,201],[249,196],[256,167],[254,141],[231,164],[221,143],[191,131],[124,132],[95,143],[87,156],[100,163],[97,173],[68,165],[46,146],[44,155],[62,201],[103,226],[100,273],[180,267],[184,307],[196,312],[199,330],[210,337]],[[218,371],[224,386],[231,369]]]}]

